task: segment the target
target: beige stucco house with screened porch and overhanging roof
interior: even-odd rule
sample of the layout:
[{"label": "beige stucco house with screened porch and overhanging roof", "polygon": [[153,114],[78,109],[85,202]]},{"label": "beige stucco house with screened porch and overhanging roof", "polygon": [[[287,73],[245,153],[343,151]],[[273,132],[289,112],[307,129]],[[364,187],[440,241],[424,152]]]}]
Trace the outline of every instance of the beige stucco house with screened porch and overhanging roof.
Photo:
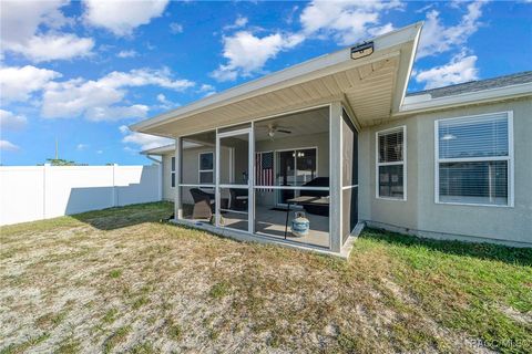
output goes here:
[{"label": "beige stucco house with screened porch and overhanging roof", "polygon": [[341,256],[364,226],[532,246],[532,72],[406,94],[420,30],[133,125],[175,139],[144,152],[175,221]]}]

